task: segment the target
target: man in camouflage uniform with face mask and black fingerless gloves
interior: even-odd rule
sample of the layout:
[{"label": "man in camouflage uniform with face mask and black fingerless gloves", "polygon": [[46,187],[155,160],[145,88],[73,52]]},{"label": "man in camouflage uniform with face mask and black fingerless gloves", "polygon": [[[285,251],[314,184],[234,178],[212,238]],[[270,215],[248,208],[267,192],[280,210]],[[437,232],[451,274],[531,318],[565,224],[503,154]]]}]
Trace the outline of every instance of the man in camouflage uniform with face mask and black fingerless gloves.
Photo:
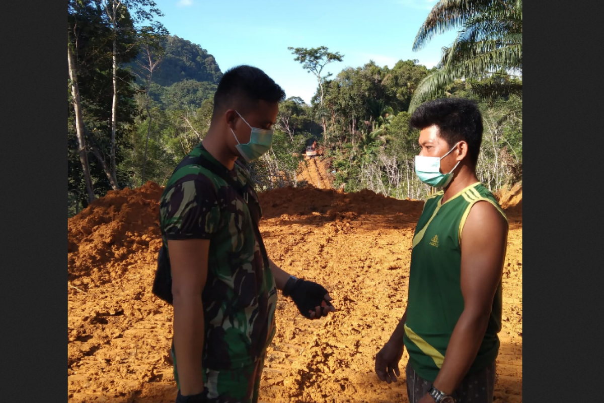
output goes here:
[{"label": "man in camouflage uniform with face mask and black fingerless gloves", "polygon": [[169,268],[172,281],[176,402],[257,401],[277,289],[307,318],[335,311],[323,286],[290,276],[266,255],[260,205],[241,161],[269,150],[284,97],[260,69],[227,71],[206,137],[161,196],[158,273]]}]

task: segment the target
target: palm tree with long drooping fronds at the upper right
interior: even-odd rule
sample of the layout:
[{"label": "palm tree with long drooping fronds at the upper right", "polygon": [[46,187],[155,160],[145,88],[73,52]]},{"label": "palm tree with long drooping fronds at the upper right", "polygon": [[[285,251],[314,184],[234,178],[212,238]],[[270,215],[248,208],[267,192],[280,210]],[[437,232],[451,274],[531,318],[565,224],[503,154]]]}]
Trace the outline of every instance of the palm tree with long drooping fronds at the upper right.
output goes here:
[{"label": "palm tree with long drooping fronds at the upper right", "polygon": [[460,28],[455,42],[443,48],[438,70],[419,83],[409,112],[443,94],[456,79],[479,80],[473,86],[483,97],[522,91],[521,80],[480,83],[501,71],[522,76],[522,0],[440,0],[417,33],[413,50],[455,28]]}]

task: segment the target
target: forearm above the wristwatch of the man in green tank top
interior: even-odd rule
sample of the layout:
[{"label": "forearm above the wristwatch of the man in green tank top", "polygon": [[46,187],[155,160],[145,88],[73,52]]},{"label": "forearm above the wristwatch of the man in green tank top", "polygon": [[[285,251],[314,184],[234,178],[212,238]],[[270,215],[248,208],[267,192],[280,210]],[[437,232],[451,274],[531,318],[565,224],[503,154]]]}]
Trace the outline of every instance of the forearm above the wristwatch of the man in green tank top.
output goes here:
[{"label": "forearm above the wristwatch of the man in green tank top", "polygon": [[451,335],[445,360],[434,387],[444,393],[452,393],[472,366],[489,323],[488,315],[464,311]]}]

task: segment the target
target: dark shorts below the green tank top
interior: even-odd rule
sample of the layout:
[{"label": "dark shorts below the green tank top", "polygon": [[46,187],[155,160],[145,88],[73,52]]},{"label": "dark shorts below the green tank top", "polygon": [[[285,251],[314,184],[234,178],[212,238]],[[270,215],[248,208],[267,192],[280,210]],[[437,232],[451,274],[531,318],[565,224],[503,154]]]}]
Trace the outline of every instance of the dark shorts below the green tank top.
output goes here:
[{"label": "dark shorts below the green tank top", "polygon": [[[409,403],[417,403],[428,393],[432,382],[420,378],[409,363],[407,363],[405,373]],[[478,372],[466,375],[451,395],[457,399],[457,403],[492,403],[494,391],[495,361]]]}]

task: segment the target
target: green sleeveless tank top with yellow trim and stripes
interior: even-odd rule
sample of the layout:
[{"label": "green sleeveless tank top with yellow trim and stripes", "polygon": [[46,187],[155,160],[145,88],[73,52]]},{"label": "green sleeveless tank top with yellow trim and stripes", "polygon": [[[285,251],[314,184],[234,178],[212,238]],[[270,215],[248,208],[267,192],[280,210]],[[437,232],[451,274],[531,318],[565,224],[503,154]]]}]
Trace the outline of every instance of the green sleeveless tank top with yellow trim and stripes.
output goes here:
[{"label": "green sleeveless tank top with yellow trim and stripes", "polygon": [[[506,217],[495,197],[477,182],[442,203],[443,192],[426,200],[413,237],[409,298],[403,341],[411,366],[434,382],[449,339],[463,312],[461,295],[461,231],[472,205],[493,204]],[[506,218],[507,220],[507,218]],[[497,287],[486,334],[468,373],[483,369],[499,352],[501,281]]]}]

